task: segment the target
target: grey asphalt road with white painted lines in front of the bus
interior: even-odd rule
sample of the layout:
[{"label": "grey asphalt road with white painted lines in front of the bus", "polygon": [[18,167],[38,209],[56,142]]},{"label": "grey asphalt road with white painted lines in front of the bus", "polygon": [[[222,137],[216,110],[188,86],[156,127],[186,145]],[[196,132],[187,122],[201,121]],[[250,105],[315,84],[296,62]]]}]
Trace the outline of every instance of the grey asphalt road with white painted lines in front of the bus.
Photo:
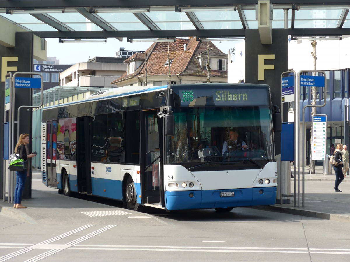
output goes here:
[{"label": "grey asphalt road with white painted lines in front of the bus", "polygon": [[[41,203],[23,210],[32,223],[0,213],[0,262],[350,260],[350,223],[250,208],[139,213],[32,183]],[[119,214],[87,215],[110,211]]]}]

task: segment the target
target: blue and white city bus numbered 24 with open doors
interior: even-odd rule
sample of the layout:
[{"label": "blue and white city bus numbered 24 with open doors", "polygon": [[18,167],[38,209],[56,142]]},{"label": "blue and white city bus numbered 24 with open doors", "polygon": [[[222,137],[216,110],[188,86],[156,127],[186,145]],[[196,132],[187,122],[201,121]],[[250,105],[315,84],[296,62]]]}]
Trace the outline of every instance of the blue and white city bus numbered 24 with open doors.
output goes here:
[{"label": "blue and white city bus numbered 24 with open doors", "polygon": [[271,205],[280,131],[267,85],[113,88],[43,109],[42,181],[135,211]]}]

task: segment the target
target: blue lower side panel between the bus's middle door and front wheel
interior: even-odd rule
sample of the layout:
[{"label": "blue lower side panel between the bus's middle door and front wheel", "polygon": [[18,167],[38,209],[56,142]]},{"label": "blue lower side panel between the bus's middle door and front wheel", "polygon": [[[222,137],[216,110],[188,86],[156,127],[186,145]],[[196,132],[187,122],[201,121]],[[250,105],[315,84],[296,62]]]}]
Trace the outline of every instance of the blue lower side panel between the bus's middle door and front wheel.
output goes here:
[{"label": "blue lower side panel between the bus's middle door and front wheel", "polygon": [[[102,179],[92,177],[92,194],[95,196],[102,196],[113,198],[117,200],[123,199],[122,182],[119,180]],[[135,183],[136,188],[138,185]]]}]

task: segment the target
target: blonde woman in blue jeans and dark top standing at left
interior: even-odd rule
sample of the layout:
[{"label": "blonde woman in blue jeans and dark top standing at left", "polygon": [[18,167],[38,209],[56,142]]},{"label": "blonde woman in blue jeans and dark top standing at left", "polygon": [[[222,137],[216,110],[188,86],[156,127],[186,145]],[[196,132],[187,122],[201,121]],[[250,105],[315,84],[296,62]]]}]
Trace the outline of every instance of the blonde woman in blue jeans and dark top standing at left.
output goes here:
[{"label": "blonde woman in blue jeans and dark top standing at left", "polygon": [[[29,154],[28,144],[29,144],[29,134],[21,134],[17,145],[15,147],[15,152],[19,154],[20,158],[27,160],[28,158],[34,158],[35,154]],[[28,165],[29,166],[29,165]],[[27,208],[26,206],[21,205],[21,198],[23,194],[24,184],[26,183],[27,178],[27,169],[23,171],[16,172],[17,183],[14,194],[14,206],[13,208]]]}]

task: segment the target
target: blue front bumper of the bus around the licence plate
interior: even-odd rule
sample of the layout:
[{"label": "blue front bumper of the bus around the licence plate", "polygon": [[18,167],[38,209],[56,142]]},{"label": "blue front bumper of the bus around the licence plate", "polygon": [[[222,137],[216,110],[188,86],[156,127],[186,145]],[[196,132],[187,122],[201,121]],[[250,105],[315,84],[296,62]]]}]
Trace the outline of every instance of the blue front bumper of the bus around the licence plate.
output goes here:
[{"label": "blue front bumper of the bus around the licence plate", "polygon": [[[262,190],[262,194],[259,193],[260,189]],[[221,197],[220,192],[235,192],[235,195]],[[193,194],[193,197],[190,197],[190,193]],[[165,195],[168,210],[259,206],[276,203],[276,187],[166,191]]]}]

